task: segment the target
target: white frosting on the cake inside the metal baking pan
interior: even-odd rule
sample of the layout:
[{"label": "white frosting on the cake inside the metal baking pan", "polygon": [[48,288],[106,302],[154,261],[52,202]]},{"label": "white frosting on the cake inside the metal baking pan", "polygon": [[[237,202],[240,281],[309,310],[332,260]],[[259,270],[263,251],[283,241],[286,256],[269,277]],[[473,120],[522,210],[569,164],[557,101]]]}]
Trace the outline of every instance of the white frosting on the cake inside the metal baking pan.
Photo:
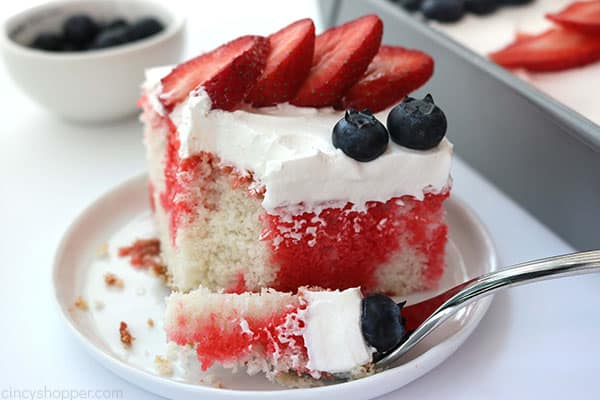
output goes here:
[{"label": "white frosting on the cake inside the metal baking pan", "polygon": [[[431,25],[473,51],[487,56],[512,43],[517,32],[540,33],[553,26],[544,15],[558,12],[573,0],[535,0],[519,7],[502,7],[486,15],[466,15],[455,24]],[[560,72],[518,75],[556,100],[600,125],[600,63]]]}]

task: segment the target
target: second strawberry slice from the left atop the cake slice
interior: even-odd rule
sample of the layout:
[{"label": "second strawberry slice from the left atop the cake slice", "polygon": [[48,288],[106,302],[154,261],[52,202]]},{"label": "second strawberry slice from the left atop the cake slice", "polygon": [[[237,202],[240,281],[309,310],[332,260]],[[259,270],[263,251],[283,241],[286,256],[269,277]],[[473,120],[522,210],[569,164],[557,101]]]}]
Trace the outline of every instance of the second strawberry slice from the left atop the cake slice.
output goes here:
[{"label": "second strawberry slice from the left atop the cake slice", "polygon": [[269,36],[271,53],[262,76],[246,96],[255,107],[289,101],[310,72],[315,25],[301,19]]}]

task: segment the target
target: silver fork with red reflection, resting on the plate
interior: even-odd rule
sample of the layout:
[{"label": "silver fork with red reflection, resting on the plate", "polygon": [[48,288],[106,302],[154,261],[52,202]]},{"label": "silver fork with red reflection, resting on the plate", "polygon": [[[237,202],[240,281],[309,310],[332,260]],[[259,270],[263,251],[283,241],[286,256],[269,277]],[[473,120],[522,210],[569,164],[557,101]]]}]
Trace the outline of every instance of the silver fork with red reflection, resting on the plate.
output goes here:
[{"label": "silver fork with red reflection, resting on the plate", "polygon": [[529,261],[461,283],[434,298],[402,310],[411,331],[394,350],[375,362],[377,369],[394,366],[400,358],[456,311],[500,289],[546,279],[600,272],[600,250]]}]

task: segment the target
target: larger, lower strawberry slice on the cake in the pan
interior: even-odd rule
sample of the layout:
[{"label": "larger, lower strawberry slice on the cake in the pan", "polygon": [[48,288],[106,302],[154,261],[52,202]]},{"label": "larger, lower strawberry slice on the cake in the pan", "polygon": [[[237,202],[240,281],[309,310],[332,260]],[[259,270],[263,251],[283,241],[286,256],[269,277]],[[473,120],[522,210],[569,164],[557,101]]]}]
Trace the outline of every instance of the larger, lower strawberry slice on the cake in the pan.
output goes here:
[{"label": "larger, lower strawberry slice on the cake in the pan", "polygon": [[600,60],[600,36],[554,28],[521,37],[490,58],[506,68],[561,71]]}]

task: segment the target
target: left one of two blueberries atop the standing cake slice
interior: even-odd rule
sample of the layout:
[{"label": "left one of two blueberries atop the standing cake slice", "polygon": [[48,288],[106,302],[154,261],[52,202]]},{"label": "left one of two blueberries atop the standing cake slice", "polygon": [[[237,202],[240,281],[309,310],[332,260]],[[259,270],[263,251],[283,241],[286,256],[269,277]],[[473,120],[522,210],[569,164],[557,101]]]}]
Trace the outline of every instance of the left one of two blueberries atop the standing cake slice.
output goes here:
[{"label": "left one of two blueberries atop the standing cake slice", "polygon": [[369,110],[347,110],[333,127],[333,146],[357,161],[371,161],[387,149],[387,129]]}]

